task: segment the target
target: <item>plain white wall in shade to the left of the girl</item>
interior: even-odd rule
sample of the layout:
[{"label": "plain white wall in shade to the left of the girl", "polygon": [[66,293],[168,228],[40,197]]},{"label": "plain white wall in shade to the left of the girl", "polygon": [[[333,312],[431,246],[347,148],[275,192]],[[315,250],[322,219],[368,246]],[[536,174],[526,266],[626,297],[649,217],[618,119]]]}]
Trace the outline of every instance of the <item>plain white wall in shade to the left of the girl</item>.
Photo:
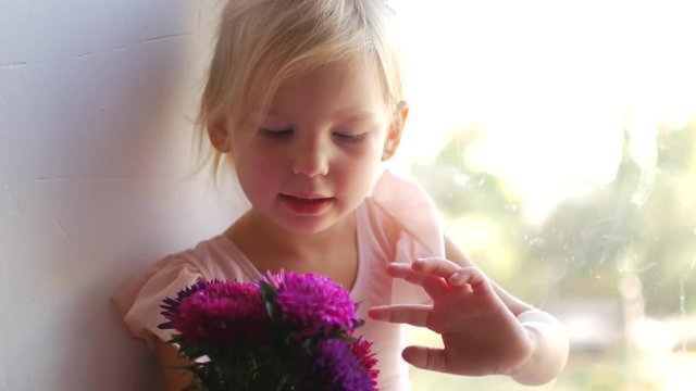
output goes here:
[{"label": "plain white wall in shade to the left of the girl", "polygon": [[213,0],[0,1],[0,390],[152,390],[110,297],[240,211],[188,177]]}]

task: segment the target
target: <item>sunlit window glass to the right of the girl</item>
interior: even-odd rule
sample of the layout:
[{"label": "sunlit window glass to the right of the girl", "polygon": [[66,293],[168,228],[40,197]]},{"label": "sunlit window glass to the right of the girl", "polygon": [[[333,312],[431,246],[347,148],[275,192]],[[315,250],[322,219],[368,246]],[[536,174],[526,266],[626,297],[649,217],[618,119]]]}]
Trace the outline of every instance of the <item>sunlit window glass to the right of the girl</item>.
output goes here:
[{"label": "sunlit window glass to the right of the girl", "polygon": [[[400,168],[567,326],[552,390],[696,389],[696,56],[679,1],[399,2]],[[414,330],[413,343],[437,345]],[[413,388],[526,389],[412,369]],[[464,386],[462,386],[464,384]]]}]

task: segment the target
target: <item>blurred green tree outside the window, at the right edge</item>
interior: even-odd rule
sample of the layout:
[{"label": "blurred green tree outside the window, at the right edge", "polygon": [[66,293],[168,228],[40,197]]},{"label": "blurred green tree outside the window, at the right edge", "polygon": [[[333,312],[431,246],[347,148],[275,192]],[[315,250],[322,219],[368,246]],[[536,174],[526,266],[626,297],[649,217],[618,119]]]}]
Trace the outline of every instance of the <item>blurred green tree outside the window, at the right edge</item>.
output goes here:
[{"label": "blurred green tree outside the window, at the right edge", "polygon": [[[696,123],[662,129],[657,173],[646,173],[632,157],[626,135],[614,180],[562,203],[538,232],[544,244],[527,256],[563,270],[566,294],[614,294],[621,275],[635,273],[648,313],[696,308],[695,141]],[[645,202],[635,202],[646,190]]]}]

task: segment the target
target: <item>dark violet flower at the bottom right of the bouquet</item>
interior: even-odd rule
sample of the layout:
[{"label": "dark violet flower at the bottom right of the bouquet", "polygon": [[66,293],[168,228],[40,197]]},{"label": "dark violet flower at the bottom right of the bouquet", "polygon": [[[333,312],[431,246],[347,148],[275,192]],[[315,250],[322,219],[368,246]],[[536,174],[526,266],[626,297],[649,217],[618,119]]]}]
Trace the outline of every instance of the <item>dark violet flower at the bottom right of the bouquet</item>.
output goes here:
[{"label": "dark violet flower at the bottom right of the bouquet", "polygon": [[321,340],[301,390],[373,391],[373,379],[345,341]]}]

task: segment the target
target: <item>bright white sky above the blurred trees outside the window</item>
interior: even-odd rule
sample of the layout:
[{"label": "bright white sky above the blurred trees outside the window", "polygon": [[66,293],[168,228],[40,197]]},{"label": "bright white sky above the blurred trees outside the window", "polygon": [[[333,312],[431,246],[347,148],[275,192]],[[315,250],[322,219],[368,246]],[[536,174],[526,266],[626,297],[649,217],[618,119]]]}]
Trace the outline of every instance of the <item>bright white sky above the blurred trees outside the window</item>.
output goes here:
[{"label": "bright white sky above the blurred trees outside the window", "polygon": [[448,130],[478,124],[474,163],[506,177],[532,218],[611,180],[624,128],[650,168],[657,124],[696,115],[696,2],[395,4],[411,74],[402,155],[432,155]]}]

